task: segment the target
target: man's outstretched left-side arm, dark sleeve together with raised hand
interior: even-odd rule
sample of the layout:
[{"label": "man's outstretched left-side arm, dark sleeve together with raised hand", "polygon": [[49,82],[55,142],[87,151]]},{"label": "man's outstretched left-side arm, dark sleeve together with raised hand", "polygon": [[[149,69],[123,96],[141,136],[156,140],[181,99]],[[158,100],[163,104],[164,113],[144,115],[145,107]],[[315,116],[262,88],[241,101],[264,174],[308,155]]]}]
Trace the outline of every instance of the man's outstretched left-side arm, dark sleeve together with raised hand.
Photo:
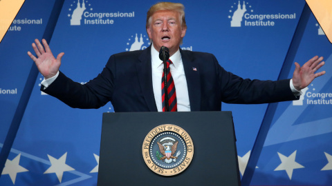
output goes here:
[{"label": "man's outstretched left-side arm, dark sleeve together with raised hand", "polygon": [[[55,59],[46,40],[43,39],[42,42],[45,50],[42,43],[35,39],[33,49],[37,57],[33,56],[31,52],[28,52],[28,55],[35,61],[39,72],[45,79],[55,79],[47,88],[42,85],[41,90],[43,92],[50,96],[55,96],[70,107],[98,108],[109,101],[110,92],[113,90],[113,84],[109,82],[112,80],[113,74],[111,74],[109,68],[104,68],[97,78],[89,81],[86,85],[81,85],[59,72],[64,53],[60,53]],[[59,75],[55,76],[57,73]]]}]

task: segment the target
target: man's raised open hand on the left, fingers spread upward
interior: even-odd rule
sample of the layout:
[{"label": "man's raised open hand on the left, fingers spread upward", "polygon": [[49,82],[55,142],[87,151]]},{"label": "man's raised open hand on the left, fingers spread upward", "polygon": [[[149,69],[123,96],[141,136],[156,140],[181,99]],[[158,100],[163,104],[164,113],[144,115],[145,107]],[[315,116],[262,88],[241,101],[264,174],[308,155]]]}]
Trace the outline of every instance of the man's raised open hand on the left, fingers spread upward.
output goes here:
[{"label": "man's raised open hand on the left, fingers spread upward", "polygon": [[35,50],[37,57],[31,54],[30,51],[28,52],[28,55],[31,59],[33,59],[33,61],[35,61],[39,72],[44,76],[44,78],[49,79],[55,76],[55,74],[59,71],[61,58],[64,56],[64,52],[58,54],[57,59],[55,59],[46,40],[42,39],[42,42],[45,50],[42,43],[40,43],[38,39],[35,39],[35,43],[33,43],[33,50]]}]

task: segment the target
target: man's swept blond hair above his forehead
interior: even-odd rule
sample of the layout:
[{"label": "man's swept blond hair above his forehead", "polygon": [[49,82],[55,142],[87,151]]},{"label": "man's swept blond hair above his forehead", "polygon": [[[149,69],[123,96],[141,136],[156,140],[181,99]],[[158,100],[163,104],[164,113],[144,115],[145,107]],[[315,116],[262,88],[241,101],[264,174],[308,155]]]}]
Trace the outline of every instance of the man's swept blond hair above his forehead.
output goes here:
[{"label": "man's swept blond hair above his forehead", "polygon": [[147,25],[146,28],[149,28],[151,24],[152,15],[159,10],[171,10],[180,13],[181,25],[182,28],[187,28],[185,24],[185,6],[181,3],[170,3],[170,2],[160,2],[151,6],[149,11],[147,11]]}]

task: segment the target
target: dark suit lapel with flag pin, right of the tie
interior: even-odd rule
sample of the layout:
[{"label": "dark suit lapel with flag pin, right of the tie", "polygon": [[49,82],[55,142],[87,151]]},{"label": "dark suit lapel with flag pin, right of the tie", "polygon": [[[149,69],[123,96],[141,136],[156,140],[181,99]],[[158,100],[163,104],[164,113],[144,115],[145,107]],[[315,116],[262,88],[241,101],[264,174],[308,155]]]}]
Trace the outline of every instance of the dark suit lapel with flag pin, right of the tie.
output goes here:
[{"label": "dark suit lapel with flag pin, right of the tie", "polygon": [[[192,55],[180,49],[187,80],[191,111],[201,110],[201,80],[199,78],[199,64],[192,59]],[[196,68],[196,69],[195,69]]]}]

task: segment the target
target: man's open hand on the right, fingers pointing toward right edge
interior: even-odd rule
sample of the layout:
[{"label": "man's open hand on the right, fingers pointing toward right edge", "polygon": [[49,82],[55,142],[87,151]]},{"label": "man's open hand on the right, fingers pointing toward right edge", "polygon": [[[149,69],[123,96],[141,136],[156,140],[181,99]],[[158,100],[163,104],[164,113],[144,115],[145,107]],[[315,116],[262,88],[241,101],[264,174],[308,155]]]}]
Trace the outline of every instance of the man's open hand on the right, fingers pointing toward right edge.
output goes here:
[{"label": "man's open hand on the right, fingers pointing toward right edge", "polygon": [[[317,72],[322,65],[325,64],[323,57],[314,56],[312,59],[304,63],[301,67],[299,63],[295,62],[295,70],[293,73],[293,85],[296,90],[302,90],[307,87],[316,77],[325,74],[325,71]],[[321,63],[322,61],[322,63]]]}]

